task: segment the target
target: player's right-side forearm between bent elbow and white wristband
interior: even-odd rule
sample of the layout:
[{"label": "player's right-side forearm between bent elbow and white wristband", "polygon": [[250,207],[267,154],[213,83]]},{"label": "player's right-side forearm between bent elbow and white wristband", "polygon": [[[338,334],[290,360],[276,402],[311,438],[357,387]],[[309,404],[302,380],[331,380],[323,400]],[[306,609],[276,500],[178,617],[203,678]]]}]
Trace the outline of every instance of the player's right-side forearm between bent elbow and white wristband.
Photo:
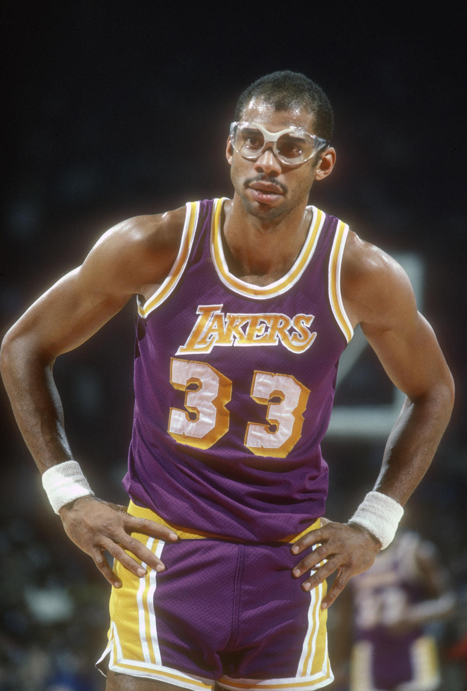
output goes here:
[{"label": "player's right-side forearm between bent elbow and white wristband", "polygon": [[451,381],[415,401],[405,400],[387,439],[381,472],[374,489],[402,506],[425,475],[449,422]]}]

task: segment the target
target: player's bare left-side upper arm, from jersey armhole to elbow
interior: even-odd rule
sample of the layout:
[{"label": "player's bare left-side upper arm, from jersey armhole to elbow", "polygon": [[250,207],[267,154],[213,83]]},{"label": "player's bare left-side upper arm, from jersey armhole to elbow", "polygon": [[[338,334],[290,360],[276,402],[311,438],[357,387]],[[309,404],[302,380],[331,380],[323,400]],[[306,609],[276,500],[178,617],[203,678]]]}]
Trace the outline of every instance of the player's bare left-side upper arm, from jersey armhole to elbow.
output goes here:
[{"label": "player's bare left-side upper arm, from jersey armhole to elbow", "polygon": [[[170,272],[185,223],[185,209],[118,223],[95,243],[82,265],[40,296],[8,332],[44,362],[73,350]],[[33,345],[31,345],[33,344]],[[29,347],[29,346],[28,346]]]}]

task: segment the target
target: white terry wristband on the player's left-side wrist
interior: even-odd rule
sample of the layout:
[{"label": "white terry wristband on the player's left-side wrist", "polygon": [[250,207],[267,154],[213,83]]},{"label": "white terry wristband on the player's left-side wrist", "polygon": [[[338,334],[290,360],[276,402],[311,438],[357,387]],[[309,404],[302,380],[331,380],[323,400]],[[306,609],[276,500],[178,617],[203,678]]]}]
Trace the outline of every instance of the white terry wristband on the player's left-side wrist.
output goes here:
[{"label": "white terry wristband on the player's left-side wrist", "polygon": [[76,461],[64,461],[42,475],[42,485],[55,513],[79,497],[94,496]]}]

